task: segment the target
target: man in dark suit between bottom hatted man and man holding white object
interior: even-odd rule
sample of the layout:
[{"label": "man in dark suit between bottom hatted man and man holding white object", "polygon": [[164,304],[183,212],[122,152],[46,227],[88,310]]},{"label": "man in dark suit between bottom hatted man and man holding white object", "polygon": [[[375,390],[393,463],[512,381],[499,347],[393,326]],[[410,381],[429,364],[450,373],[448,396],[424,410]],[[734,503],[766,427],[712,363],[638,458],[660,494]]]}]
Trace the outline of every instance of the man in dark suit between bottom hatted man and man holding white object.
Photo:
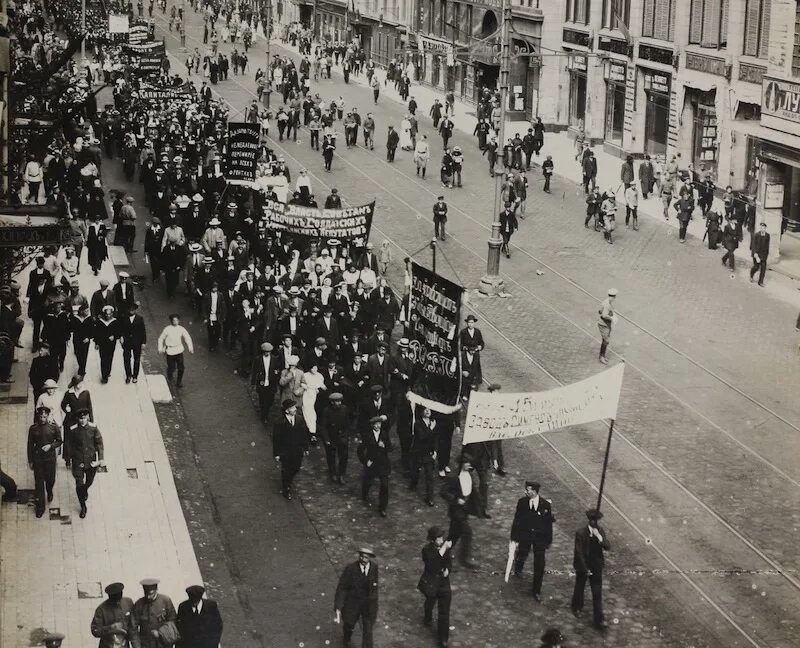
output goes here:
[{"label": "man in dark suit between bottom hatted man and man holding white object", "polygon": [[417,583],[417,589],[425,595],[423,622],[433,621],[433,606],[438,603],[437,634],[439,647],[447,646],[450,638],[450,570],[453,568],[453,543],[445,540],[444,529],[428,529],[428,544],[422,548],[422,562],[425,569]]}]

